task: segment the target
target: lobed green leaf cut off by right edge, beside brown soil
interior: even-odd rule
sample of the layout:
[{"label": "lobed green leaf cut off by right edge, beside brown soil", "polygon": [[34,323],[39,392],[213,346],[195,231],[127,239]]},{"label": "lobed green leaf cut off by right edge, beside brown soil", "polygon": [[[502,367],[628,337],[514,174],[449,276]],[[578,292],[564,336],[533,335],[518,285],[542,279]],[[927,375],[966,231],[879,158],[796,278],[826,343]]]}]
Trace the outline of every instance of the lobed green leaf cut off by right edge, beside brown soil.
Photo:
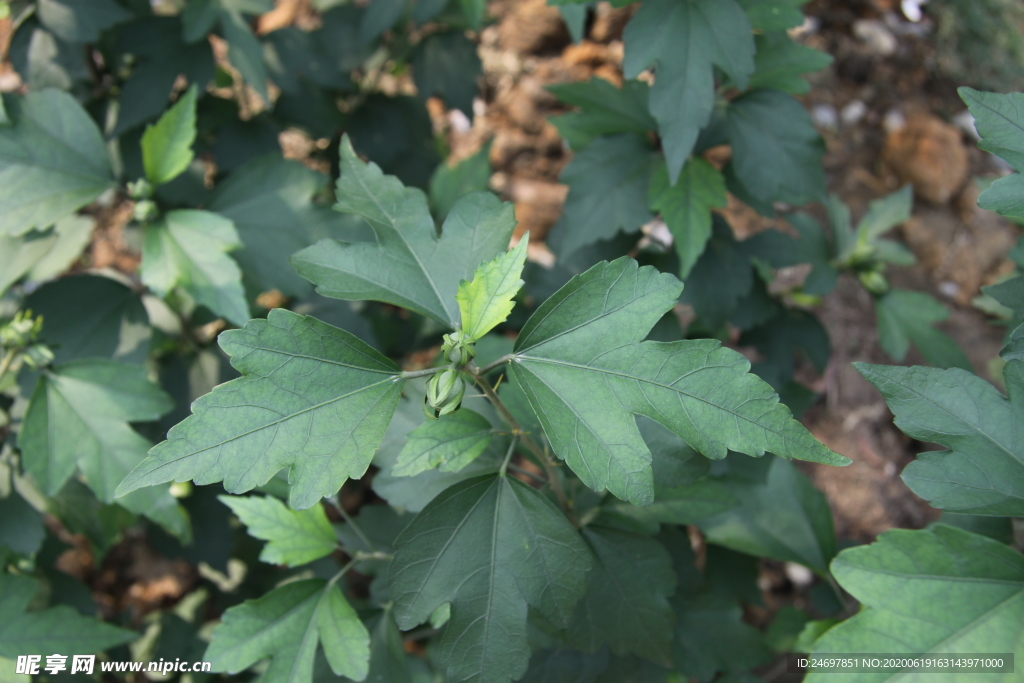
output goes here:
[{"label": "lobed green leaf cut off by right edge, beside brown soil", "polygon": [[979,92],[959,88],[967,102],[974,126],[981,135],[978,146],[1010,164],[1018,173],[999,178],[978,198],[983,209],[1010,218],[1024,218],[1024,93]]}]

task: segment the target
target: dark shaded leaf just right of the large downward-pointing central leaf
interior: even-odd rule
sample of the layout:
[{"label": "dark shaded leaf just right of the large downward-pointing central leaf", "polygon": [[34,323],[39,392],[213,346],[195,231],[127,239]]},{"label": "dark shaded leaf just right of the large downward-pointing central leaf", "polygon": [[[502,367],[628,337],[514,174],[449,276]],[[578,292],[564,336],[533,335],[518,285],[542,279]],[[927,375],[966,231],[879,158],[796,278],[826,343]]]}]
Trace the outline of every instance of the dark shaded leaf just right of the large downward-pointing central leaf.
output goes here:
[{"label": "dark shaded leaf just right of the large downward-pointing central leaf", "polygon": [[672,666],[676,615],[669,596],[676,590],[672,558],[654,539],[588,527],[583,538],[594,553],[587,593],[568,626],[573,647],[636,654]]}]

